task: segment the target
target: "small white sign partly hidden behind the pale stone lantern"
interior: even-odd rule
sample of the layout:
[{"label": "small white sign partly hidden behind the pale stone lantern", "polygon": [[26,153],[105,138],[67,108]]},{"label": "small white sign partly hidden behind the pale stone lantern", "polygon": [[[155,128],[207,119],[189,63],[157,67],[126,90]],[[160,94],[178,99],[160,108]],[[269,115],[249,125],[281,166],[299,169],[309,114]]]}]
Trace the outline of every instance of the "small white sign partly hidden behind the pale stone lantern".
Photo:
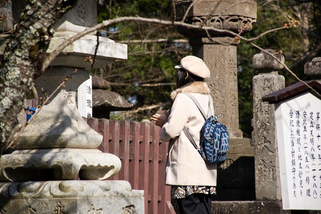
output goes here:
[{"label": "small white sign partly hidden behind the pale stone lantern", "polygon": [[92,118],[92,83],[91,76],[77,89],[78,111],[84,118]]}]

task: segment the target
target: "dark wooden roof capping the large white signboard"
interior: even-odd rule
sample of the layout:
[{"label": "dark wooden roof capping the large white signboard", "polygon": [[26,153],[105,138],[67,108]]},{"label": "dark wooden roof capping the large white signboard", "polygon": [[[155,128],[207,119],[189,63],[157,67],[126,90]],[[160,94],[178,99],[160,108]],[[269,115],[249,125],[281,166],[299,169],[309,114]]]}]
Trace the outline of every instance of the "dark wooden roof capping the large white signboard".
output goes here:
[{"label": "dark wooden roof capping the large white signboard", "polygon": [[321,99],[321,81],[305,81],[307,85],[312,87],[314,90],[316,90],[317,93],[315,93],[311,88],[309,88],[307,85],[305,85],[302,82],[295,83],[293,85],[290,85],[288,87],[285,87],[283,89],[280,89],[278,91],[275,91],[273,93],[267,94],[262,97],[263,102],[269,102],[270,104],[274,103],[280,103],[282,101],[288,100],[290,98],[293,98],[294,96],[297,96],[299,94],[305,93],[307,91],[310,91],[315,96],[317,96],[319,99]]}]

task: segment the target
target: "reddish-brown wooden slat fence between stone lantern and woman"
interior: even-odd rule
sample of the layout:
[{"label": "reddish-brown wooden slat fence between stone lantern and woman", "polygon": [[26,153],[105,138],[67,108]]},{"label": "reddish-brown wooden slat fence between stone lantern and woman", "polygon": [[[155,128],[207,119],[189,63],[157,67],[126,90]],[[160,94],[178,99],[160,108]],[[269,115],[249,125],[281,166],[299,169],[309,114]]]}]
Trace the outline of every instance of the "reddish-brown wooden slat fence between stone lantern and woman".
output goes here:
[{"label": "reddish-brown wooden slat fence between stone lantern and woman", "polygon": [[170,203],[170,186],[165,185],[168,143],[159,140],[160,128],[152,123],[85,120],[104,137],[98,149],[115,154],[122,161],[121,171],[111,180],[126,180],[132,189],[144,190],[145,213],[175,213]]}]

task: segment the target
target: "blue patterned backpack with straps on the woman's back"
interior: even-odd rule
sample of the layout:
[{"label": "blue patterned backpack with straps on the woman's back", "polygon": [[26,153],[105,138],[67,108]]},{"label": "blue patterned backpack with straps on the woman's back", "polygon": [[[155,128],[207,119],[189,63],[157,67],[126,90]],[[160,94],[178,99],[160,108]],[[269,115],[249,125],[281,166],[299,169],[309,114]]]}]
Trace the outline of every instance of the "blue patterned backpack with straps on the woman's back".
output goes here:
[{"label": "blue patterned backpack with straps on the woman's back", "polygon": [[229,132],[225,125],[216,120],[220,115],[212,115],[210,108],[210,103],[212,102],[211,96],[209,95],[209,111],[206,115],[193,95],[188,93],[184,94],[194,101],[205,119],[205,123],[200,131],[199,148],[196,146],[188,129],[184,127],[183,131],[187,138],[206,162],[216,164],[225,161],[229,150]]}]

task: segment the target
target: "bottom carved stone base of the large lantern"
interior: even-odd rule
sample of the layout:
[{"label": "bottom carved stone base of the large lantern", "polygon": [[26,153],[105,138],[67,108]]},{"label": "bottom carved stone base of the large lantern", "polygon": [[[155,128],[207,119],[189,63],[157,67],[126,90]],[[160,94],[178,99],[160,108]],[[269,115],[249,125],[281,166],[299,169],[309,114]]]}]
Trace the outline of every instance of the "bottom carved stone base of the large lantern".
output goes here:
[{"label": "bottom carved stone base of the large lantern", "polygon": [[144,213],[144,191],[127,181],[0,183],[0,211],[21,213]]}]

